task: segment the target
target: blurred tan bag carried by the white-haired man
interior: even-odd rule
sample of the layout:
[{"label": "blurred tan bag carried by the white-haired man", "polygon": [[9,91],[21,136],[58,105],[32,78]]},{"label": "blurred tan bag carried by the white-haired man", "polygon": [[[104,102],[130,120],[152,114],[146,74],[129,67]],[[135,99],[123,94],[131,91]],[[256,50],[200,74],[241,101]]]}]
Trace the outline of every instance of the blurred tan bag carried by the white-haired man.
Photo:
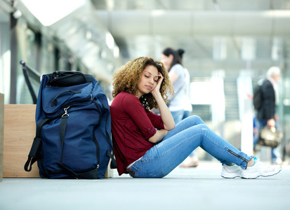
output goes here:
[{"label": "blurred tan bag carried by the white-haired man", "polygon": [[258,143],[262,146],[270,146],[276,148],[281,139],[283,138],[283,133],[279,132],[276,127],[262,127]]}]

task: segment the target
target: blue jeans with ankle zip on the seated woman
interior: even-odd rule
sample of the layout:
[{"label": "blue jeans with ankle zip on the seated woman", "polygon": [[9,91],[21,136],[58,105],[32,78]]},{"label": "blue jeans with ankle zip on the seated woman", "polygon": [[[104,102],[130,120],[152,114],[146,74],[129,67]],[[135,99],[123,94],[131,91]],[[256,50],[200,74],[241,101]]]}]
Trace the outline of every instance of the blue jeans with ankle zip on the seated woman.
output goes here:
[{"label": "blue jeans with ankle zip on the seated woman", "polygon": [[150,148],[136,161],[130,175],[135,178],[162,178],[180,165],[192,151],[200,146],[221,163],[235,164],[246,169],[253,158],[237,150],[219,137],[199,116],[190,116],[170,130],[159,144]]}]

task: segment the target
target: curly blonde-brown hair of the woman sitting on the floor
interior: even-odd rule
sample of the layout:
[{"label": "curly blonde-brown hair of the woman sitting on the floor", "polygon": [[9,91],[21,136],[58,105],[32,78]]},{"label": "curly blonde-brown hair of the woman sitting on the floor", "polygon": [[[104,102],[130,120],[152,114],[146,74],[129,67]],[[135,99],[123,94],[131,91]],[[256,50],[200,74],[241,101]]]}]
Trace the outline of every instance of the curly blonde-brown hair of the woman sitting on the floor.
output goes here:
[{"label": "curly blonde-brown hair of the woman sitting on the floor", "polygon": [[[117,94],[122,91],[137,95],[138,83],[146,66],[154,66],[160,73],[162,73],[164,79],[160,85],[160,93],[164,101],[168,102],[168,97],[174,94],[168,72],[164,68],[164,64],[162,62],[157,62],[151,57],[138,57],[136,59],[132,59],[130,62],[127,62],[124,66],[121,66],[121,68],[119,68],[113,76],[114,81],[112,96],[116,97]],[[167,94],[169,94],[169,96]],[[140,102],[146,109],[158,108],[157,102],[151,92],[148,94],[143,94],[143,96],[140,97]]]}]

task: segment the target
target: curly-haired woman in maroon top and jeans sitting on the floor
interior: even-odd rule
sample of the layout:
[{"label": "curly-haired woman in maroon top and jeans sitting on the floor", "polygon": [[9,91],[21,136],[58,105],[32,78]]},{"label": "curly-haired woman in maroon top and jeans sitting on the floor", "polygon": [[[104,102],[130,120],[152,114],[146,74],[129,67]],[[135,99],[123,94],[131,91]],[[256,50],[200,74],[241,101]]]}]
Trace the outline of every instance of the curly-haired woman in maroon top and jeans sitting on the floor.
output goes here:
[{"label": "curly-haired woman in maroon top and jeans sitting on the floor", "polygon": [[[114,74],[113,86],[112,134],[119,175],[162,178],[198,146],[223,164],[224,178],[256,179],[282,169],[237,150],[199,116],[175,125],[166,106],[166,94],[173,94],[173,89],[162,62],[133,59]],[[160,116],[150,111],[153,108],[159,108]]]}]

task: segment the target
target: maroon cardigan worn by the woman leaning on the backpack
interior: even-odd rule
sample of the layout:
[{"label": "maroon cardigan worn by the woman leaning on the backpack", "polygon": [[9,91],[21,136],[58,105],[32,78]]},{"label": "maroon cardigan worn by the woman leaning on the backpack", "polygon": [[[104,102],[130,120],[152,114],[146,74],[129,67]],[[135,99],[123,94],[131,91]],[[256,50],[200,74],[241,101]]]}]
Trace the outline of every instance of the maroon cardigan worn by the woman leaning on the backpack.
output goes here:
[{"label": "maroon cardigan worn by the woman leaning on the backpack", "polygon": [[[114,154],[119,175],[141,158],[154,144],[148,139],[164,129],[161,116],[141,105],[133,94],[120,92],[111,104]],[[156,128],[156,129],[155,129]]]}]

